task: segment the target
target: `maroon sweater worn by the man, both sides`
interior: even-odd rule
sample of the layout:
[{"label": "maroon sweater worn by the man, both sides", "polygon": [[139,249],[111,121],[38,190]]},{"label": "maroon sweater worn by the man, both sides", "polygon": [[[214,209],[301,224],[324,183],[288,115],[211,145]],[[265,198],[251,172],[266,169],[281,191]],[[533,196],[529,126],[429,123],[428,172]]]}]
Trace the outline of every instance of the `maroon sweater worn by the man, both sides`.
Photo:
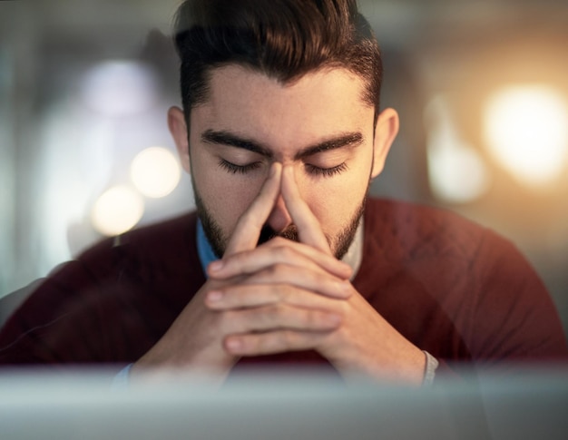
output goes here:
[{"label": "maroon sweater worn by the man, both sides", "polygon": [[[0,332],[0,364],[127,364],[205,282],[194,213],[104,240],[50,275]],[[543,283],[508,241],[454,214],[368,200],[353,285],[441,361],[565,359]],[[315,352],[243,359],[325,362]]]}]

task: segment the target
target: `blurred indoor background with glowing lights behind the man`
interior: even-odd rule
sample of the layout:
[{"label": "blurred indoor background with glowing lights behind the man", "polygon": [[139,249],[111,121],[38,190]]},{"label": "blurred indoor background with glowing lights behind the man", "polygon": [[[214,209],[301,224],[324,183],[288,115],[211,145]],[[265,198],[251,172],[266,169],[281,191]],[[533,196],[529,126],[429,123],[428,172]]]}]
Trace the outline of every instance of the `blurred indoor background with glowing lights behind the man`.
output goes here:
[{"label": "blurred indoor background with glowing lights behind the man", "polygon": [[[0,1],[0,297],[193,206],[166,126],[178,4]],[[568,328],[568,3],[359,5],[401,116],[372,192],[513,240]]]}]

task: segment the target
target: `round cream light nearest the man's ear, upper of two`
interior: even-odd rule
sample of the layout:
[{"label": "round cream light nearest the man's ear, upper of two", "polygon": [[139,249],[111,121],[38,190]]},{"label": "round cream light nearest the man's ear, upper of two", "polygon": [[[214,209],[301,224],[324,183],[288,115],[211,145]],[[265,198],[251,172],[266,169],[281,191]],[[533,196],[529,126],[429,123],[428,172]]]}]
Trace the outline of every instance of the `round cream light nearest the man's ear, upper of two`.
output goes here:
[{"label": "round cream light nearest the man's ear, upper of two", "polygon": [[132,161],[131,178],[143,195],[165,197],[180,182],[180,165],[169,150],[162,147],[147,148]]}]

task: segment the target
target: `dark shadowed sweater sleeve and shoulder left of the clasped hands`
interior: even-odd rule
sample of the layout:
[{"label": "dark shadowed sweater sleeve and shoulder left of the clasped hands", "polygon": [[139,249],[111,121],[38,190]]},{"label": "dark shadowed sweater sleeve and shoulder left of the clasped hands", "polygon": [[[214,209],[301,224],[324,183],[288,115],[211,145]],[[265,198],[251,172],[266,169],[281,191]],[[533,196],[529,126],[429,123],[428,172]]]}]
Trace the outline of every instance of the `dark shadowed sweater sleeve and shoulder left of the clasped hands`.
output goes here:
[{"label": "dark shadowed sweater sleeve and shoulder left of the clasped hands", "polygon": [[185,214],[60,266],[0,330],[0,365],[136,361],[205,282],[194,237],[195,216]]}]

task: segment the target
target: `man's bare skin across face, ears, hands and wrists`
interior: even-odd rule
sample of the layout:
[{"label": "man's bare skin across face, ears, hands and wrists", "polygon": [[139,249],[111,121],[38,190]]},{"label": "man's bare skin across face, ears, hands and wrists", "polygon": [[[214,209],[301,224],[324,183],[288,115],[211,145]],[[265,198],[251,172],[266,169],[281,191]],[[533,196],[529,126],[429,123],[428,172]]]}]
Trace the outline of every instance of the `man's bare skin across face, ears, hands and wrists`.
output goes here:
[{"label": "man's bare skin across face, ears, hands and wrists", "polygon": [[[175,367],[222,380],[240,357],[315,349],[347,378],[421,383],[424,354],[367,304],[335,258],[398,128],[387,109],[374,132],[363,87],[342,69],[281,84],[230,65],[212,73],[189,136],[181,110],[170,110],[181,163],[216,222],[223,257],[133,374]],[[258,245],[267,224],[293,225],[298,241]]]}]

